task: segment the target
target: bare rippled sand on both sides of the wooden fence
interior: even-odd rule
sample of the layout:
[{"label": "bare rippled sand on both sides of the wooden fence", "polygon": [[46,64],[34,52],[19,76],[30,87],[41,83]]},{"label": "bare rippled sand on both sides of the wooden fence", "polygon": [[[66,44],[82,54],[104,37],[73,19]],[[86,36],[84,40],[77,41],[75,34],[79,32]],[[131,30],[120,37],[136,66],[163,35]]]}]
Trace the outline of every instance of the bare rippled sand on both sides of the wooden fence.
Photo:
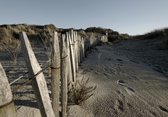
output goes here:
[{"label": "bare rippled sand on both sides of the wooden fence", "polygon": [[[42,51],[38,54],[39,59],[43,58]],[[70,105],[68,116],[167,117],[167,58],[168,49],[160,49],[158,40],[128,40],[97,46],[81,63],[78,72],[78,78],[89,78],[89,85],[97,88],[82,104]],[[39,60],[41,64],[44,61]],[[9,65],[3,65],[9,81],[26,72],[22,63],[17,75],[12,75],[16,71]],[[49,77],[46,79],[49,84]],[[17,91],[14,98],[18,117],[40,117],[31,84]]]}]

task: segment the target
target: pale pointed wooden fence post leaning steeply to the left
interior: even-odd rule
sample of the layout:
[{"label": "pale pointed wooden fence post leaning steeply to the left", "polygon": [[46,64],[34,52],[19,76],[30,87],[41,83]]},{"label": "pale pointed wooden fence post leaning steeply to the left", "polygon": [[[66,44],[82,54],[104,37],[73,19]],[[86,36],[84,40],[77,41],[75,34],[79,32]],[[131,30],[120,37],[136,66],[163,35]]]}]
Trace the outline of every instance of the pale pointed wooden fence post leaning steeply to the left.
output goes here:
[{"label": "pale pointed wooden fence post leaning steeply to the left", "polygon": [[47,84],[44,78],[44,74],[41,72],[41,67],[34,55],[31,44],[25,32],[20,33],[20,39],[22,43],[22,50],[26,60],[27,68],[30,78],[32,79],[32,86],[35,90],[35,95],[40,108],[42,117],[54,117],[54,112],[51,106],[50,97],[48,94]]}]

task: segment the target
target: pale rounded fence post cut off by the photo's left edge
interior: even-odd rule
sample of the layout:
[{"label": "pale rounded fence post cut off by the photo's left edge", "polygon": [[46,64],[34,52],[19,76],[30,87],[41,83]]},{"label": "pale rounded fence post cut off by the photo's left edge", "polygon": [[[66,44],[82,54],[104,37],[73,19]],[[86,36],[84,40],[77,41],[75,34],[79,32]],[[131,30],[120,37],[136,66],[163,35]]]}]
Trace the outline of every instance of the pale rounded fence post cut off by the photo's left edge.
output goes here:
[{"label": "pale rounded fence post cut off by the photo's left edge", "polygon": [[0,117],[16,117],[13,96],[5,71],[0,64]]}]

